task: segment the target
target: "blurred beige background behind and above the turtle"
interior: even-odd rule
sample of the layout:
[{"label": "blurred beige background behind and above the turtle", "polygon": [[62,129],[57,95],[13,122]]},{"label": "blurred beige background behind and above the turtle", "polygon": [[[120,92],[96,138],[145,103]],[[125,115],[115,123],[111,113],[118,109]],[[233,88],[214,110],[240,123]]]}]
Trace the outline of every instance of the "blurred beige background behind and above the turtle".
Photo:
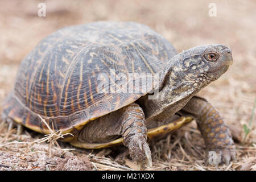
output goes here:
[{"label": "blurred beige background behind and above the turtle", "polygon": [[[38,15],[39,3],[46,5],[45,17]],[[20,61],[47,35],[98,20],[133,21],[162,34],[178,52],[210,43],[232,48],[234,64],[201,94],[220,110],[238,144],[245,137],[243,125],[251,121],[244,142],[252,146],[256,142],[255,117],[251,118],[256,96],[255,8],[254,0],[0,1],[0,101],[12,89]],[[243,152],[240,156],[249,157]]]}]

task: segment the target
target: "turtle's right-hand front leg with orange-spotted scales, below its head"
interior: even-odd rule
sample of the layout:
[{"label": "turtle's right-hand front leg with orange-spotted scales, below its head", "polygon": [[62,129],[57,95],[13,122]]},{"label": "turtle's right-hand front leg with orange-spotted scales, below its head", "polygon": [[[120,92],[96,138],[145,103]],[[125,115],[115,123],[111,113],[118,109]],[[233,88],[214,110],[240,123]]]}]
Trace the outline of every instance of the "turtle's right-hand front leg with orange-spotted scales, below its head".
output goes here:
[{"label": "turtle's right-hand front leg with orange-spotted scales, below its head", "polygon": [[[208,150],[207,163],[214,153],[216,154],[216,165],[221,162],[228,165],[231,159],[236,160],[236,147],[229,128],[225,125],[220,113],[207,100],[194,96],[182,110],[196,117],[197,125]],[[209,153],[210,151],[214,153]]]}]

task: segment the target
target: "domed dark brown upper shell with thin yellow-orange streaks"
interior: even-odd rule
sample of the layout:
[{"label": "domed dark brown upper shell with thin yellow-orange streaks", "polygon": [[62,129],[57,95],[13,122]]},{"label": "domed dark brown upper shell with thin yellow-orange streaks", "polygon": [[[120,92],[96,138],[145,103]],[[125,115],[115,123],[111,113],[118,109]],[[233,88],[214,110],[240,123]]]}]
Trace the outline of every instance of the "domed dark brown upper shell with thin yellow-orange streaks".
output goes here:
[{"label": "domed dark brown upper shell with thin yellow-orange streaks", "polygon": [[[119,73],[155,75],[176,53],[163,36],[139,23],[95,22],[63,28],[23,59],[3,115],[47,134],[42,117],[53,130],[76,135],[89,121],[148,93],[148,89],[113,92],[115,86],[127,83],[118,79]],[[106,92],[99,89],[100,76],[108,83]]]}]

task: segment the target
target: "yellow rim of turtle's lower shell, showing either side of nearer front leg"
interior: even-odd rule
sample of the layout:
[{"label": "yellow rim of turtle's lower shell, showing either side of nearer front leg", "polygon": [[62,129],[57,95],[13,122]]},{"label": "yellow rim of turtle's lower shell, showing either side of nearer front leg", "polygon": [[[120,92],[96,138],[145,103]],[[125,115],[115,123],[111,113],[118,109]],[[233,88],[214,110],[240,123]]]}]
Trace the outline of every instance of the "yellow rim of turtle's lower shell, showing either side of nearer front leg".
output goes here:
[{"label": "yellow rim of turtle's lower shell, showing either side of nearer front leg", "polygon": [[[169,123],[168,125],[159,126],[154,129],[148,129],[147,138],[151,140],[151,139],[154,139],[154,137],[159,136],[159,134],[164,135],[169,133],[170,131],[176,131],[181,126],[191,121],[193,121],[192,117],[180,117],[179,119]],[[122,145],[122,143],[123,143],[122,137],[112,140],[110,142],[105,142],[105,143],[84,143],[84,142],[79,142],[77,140],[74,142],[71,142],[72,146],[80,147],[80,148],[88,148],[88,149],[99,149],[99,148],[118,146],[118,145]]]}]

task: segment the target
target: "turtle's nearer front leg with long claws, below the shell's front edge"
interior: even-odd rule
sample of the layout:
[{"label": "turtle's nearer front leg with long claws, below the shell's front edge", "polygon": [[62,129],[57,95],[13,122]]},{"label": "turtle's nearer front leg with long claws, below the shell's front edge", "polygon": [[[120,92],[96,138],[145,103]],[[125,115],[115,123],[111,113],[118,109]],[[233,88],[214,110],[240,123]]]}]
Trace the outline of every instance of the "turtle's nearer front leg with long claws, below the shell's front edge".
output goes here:
[{"label": "turtle's nearer front leg with long claws, below the shell's front edge", "polygon": [[124,108],[122,118],[123,144],[129,148],[130,156],[141,166],[146,159],[152,167],[151,151],[147,143],[147,127],[142,108],[138,104],[131,104]]}]

